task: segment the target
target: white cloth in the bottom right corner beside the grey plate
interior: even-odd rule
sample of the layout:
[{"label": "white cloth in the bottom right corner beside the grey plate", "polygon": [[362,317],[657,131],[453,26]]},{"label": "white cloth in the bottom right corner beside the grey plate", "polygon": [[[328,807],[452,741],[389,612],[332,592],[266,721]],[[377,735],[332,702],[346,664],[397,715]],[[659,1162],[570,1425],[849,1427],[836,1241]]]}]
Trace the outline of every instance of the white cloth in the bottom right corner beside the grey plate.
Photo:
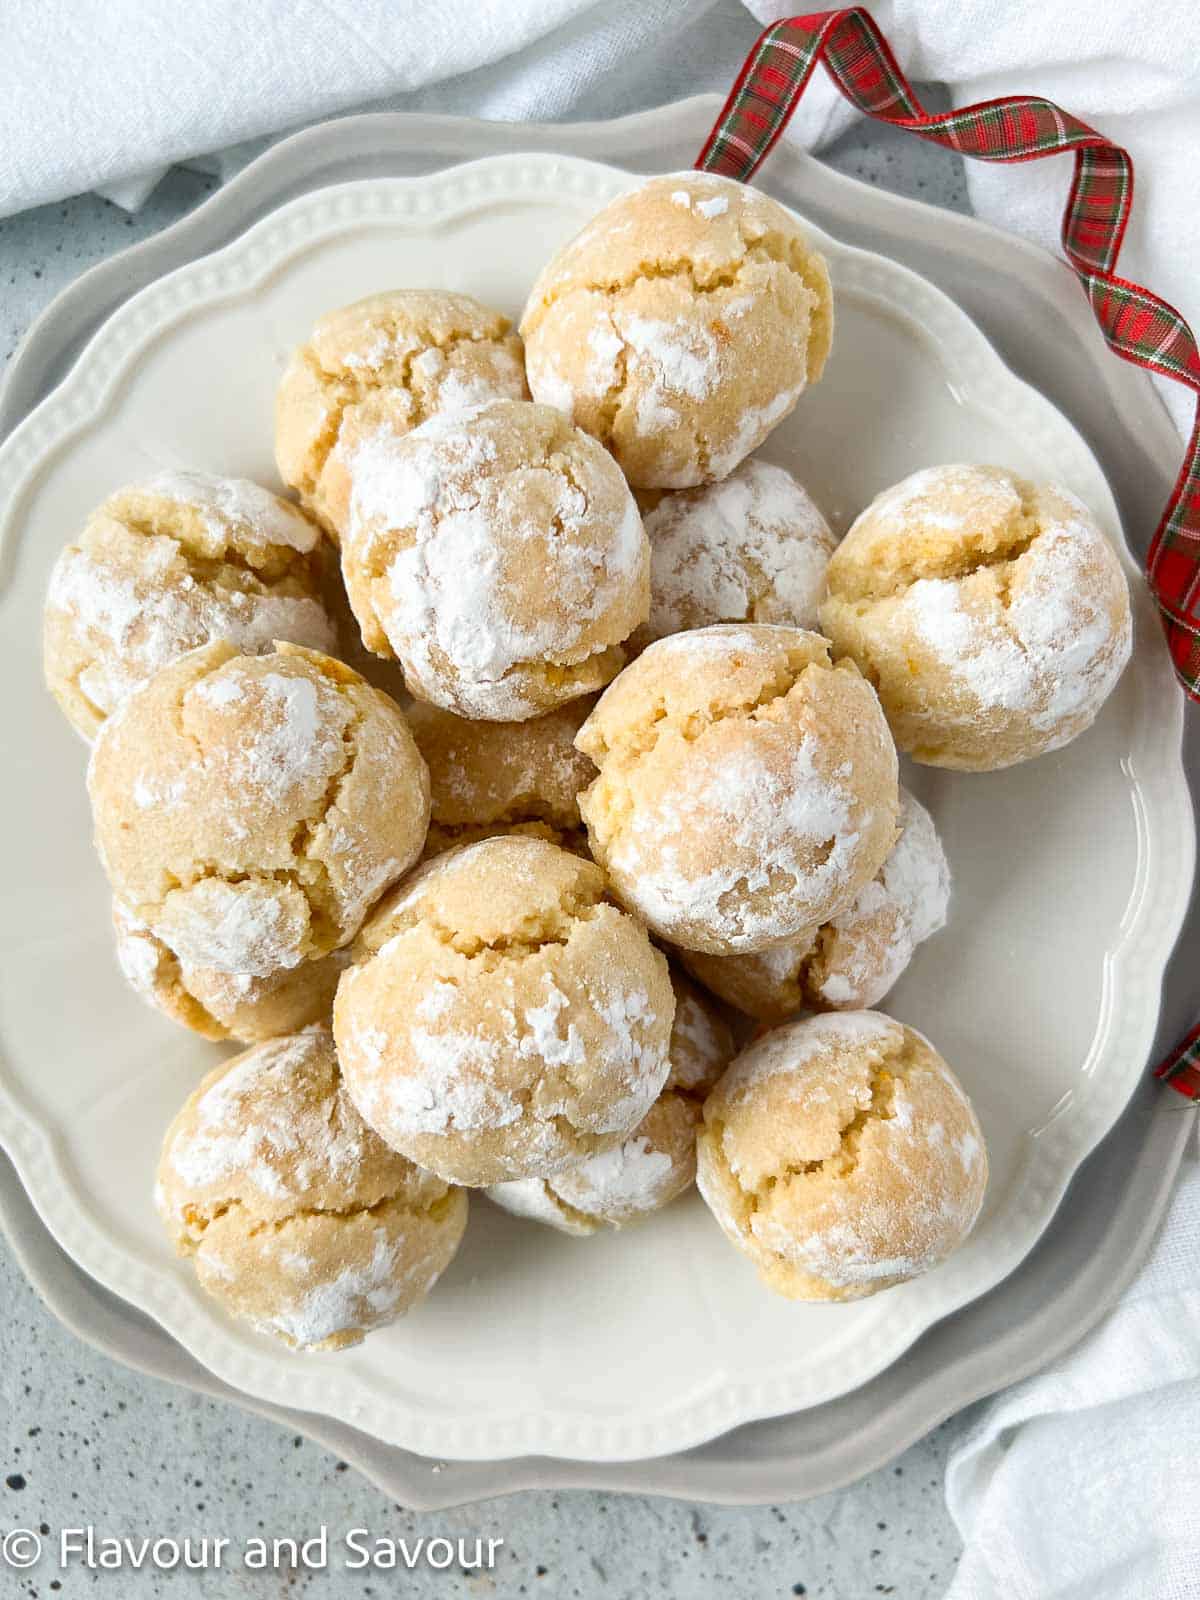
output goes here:
[{"label": "white cloth in the bottom right corner beside the grey plate", "polygon": [[[1166,1090],[1165,1093],[1170,1093]],[[1195,1115],[1179,1101],[1179,1115]],[[1200,1597],[1200,1160],[1117,1309],[950,1453],[947,1600]]]}]

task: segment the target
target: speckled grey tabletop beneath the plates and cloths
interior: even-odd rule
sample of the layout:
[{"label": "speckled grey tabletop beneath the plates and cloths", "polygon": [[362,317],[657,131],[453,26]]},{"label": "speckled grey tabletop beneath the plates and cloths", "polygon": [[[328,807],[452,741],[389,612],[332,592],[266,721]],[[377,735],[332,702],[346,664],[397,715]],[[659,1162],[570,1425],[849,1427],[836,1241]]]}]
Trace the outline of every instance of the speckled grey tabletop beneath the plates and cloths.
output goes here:
[{"label": "speckled grey tabletop beneath the plates and cloths", "polygon": [[[706,85],[707,86],[707,85]],[[936,96],[931,98],[938,104]],[[875,126],[845,134],[826,158],[840,171],[966,210],[962,163]],[[0,221],[0,352],[6,360],[38,310],[78,272],[190,210],[214,187],[173,171],[128,218],[94,197]],[[725,1509],[592,1493],[526,1493],[434,1514],[392,1506],[318,1446],[272,1424],[115,1366],[45,1310],[0,1240],[0,1534],[40,1531],[46,1554],[26,1573],[0,1568],[0,1597],[101,1592],[136,1600],[237,1594],[357,1600],[392,1594],[515,1600],[731,1600],[810,1595],[930,1600],[958,1554],[941,1493],[958,1418],[890,1467],[803,1506]],[[62,1528],[96,1534],[203,1534],[230,1539],[221,1573],[58,1570]],[[325,1570],[238,1568],[253,1538],[330,1530]],[[418,1565],[352,1571],[339,1539],[350,1528],[413,1541],[502,1539],[493,1571]],[[315,1550],[312,1554],[317,1554]],[[437,1558],[445,1552],[437,1547]]]}]

